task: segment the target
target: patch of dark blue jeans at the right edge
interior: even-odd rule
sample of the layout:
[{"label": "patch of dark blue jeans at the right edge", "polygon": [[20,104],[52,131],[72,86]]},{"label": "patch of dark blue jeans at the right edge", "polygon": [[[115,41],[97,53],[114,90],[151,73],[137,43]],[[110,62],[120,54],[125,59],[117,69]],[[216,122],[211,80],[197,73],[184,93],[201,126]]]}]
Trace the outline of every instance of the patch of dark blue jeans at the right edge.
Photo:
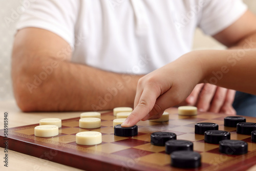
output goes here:
[{"label": "patch of dark blue jeans at the right edge", "polygon": [[256,96],[236,92],[233,108],[237,111],[237,115],[256,117]]}]

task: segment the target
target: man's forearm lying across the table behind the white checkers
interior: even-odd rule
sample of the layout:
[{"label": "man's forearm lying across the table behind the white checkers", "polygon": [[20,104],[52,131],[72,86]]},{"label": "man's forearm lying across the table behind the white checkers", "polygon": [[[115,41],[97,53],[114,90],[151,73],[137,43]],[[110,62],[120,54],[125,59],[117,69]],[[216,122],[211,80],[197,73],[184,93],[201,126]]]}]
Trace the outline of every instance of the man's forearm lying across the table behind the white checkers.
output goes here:
[{"label": "man's forearm lying across the table behind the white checkers", "polygon": [[106,72],[51,57],[29,57],[26,61],[33,65],[12,74],[14,94],[24,111],[96,111],[133,106],[140,76]]}]

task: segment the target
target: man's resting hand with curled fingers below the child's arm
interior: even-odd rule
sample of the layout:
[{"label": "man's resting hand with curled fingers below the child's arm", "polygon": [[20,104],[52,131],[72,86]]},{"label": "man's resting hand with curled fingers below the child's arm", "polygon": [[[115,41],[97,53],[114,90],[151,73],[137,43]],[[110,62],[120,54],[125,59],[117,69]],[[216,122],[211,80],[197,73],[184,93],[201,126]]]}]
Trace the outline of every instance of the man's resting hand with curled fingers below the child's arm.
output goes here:
[{"label": "man's resting hand with curled fingers below the child's arm", "polygon": [[217,87],[209,83],[198,84],[186,98],[187,105],[197,106],[200,112],[236,115],[232,107],[236,91]]}]

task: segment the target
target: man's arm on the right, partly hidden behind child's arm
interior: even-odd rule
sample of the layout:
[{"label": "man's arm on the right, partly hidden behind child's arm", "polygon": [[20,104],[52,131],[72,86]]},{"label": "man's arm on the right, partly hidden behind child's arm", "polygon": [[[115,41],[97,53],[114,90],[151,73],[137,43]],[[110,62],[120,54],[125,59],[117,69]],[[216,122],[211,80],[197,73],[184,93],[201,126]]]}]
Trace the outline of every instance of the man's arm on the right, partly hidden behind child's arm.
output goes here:
[{"label": "man's arm on the right, partly hidden behind child's arm", "polygon": [[[250,11],[246,11],[236,22],[213,37],[228,49],[256,48],[256,17]],[[211,84],[198,84],[186,98],[186,102],[196,105],[203,111],[233,114],[233,99],[233,90]]]}]

